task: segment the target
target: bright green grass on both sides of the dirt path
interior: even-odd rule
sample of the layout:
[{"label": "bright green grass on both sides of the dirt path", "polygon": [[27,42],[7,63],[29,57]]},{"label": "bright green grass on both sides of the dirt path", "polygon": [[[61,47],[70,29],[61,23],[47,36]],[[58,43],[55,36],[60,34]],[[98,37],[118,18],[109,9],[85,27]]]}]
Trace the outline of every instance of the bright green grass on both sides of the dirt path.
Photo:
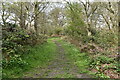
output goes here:
[{"label": "bright green grass on both sides of the dirt path", "polygon": [[[65,55],[68,59],[71,60],[70,63],[67,64],[74,64],[78,67],[79,73],[91,73],[88,68],[90,64],[90,59],[87,53],[81,53],[79,49],[69,42],[65,42],[60,38],[49,38],[47,43],[42,45],[36,45],[34,47],[29,47],[29,53],[27,52],[22,57],[22,60],[28,63],[28,65],[24,67],[15,67],[11,69],[4,69],[3,73],[5,73],[3,77],[5,78],[19,78],[23,75],[33,76],[33,74],[40,73],[37,68],[45,68],[49,65],[49,63],[56,57],[56,44],[53,42],[54,40],[58,41],[62,44],[64,48]],[[36,69],[36,70],[35,70]],[[65,68],[67,70],[67,68]],[[69,68],[68,68],[69,69]],[[40,70],[40,69],[39,69]],[[27,72],[32,72],[33,74],[26,74]],[[47,73],[46,73],[47,74]],[[69,73],[64,73],[55,76],[55,78],[70,78],[74,77]]]}]

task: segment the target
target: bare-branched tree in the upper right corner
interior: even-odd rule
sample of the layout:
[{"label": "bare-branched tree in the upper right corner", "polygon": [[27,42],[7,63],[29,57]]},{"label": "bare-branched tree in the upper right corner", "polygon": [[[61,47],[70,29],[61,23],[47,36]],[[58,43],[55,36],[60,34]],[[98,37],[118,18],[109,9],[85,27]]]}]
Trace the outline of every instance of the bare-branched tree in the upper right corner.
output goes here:
[{"label": "bare-branched tree in the upper right corner", "polygon": [[101,8],[104,9],[104,11],[101,11],[101,15],[104,18],[109,30],[112,30],[113,32],[116,31],[116,28],[118,26],[118,6],[117,2],[106,2],[106,3],[100,3]]}]

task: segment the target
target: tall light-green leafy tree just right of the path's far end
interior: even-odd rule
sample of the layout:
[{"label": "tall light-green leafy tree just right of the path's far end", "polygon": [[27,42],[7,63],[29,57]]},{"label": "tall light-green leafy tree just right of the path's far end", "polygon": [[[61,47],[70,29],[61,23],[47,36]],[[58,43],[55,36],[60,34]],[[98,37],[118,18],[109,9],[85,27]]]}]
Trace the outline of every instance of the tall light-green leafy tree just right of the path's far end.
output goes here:
[{"label": "tall light-green leafy tree just right of the path's far end", "polygon": [[74,39],[87,42],[87,28],[83,21],[82,9],[78,3],[70,3],[67,8],[68,26],[65,29],[66,34]]}]

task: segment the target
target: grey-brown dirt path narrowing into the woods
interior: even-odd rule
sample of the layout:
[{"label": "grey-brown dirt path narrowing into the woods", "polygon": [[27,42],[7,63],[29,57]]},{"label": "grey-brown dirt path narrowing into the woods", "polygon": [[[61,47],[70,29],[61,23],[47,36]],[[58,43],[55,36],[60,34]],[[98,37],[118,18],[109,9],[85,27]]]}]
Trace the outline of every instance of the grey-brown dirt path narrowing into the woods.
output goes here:
[{"label": "grey-brown dirt path narrowing into the woods", "polygon": [[89,78],[86,74],[78,73],[78,68],[67,58],[62,44],[54,42],[57,45],[55,60],[47,68],[37,68],[37,73],[33,72],[32,78]]}]

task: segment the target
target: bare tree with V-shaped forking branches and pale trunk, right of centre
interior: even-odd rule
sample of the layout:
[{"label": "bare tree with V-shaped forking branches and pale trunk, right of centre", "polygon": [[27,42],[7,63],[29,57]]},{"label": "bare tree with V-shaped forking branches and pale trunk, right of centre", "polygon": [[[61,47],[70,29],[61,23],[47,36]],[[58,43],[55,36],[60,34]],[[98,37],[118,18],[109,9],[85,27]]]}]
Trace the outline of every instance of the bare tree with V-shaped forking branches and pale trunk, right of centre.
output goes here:
[{"label": "bare tree with V-shaped forking branches and pale trunk, right of centre", "polygon": [[[93,16],[94,15],[97,8],[98,8],[98,3],[96,2],[90,2],[89,0],[87,0],[86,2],[80,1],[81,4],[83,5],[83,14],[85,14],[85,22],[87,23],[87,31],[88,31],[88,35],[91,35],[91,28],[93,28],[93,23],[95,23],[96,26],[96,20],[94,20]],[[95,18],[96,19],[96,18]]]}]

